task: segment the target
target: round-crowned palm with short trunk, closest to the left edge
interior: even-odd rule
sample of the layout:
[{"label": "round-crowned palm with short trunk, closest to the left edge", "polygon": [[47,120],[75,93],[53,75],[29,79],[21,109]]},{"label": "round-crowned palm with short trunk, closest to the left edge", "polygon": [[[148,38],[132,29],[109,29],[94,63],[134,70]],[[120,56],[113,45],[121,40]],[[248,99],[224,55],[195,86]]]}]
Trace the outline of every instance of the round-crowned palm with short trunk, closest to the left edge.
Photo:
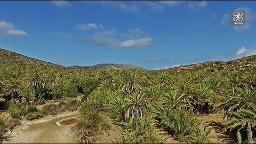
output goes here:
[{"label": "round-crowned palm with short trunk, closest to the left edge", "polygon": [[6,81],[6,91],[11,95],[11,102],[14,102],[15,96],[21,94],[22,92],[22,84],[20,78],[10,78]]}]

